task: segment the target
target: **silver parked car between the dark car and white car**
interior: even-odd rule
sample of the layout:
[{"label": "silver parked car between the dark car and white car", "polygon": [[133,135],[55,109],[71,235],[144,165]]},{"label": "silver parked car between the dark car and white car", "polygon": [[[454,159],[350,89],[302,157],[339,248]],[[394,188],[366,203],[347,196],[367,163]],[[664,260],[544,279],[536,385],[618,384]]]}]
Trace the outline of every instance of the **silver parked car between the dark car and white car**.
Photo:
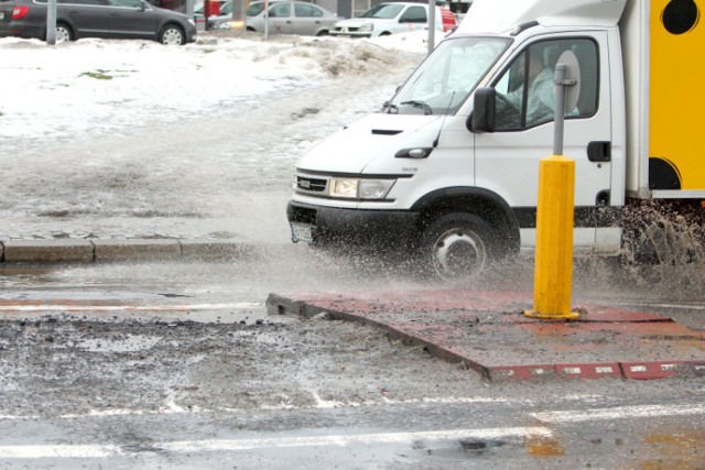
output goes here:
[{"label": "silver parked car between the dark car and white car", "polygon": [[[250,3],[247,10],[247,30],[264,33],[264,2]],[[306,2],[270,1],[268,34],[300,34],[322,36],[328,34],[340,20],[335,13]]]}]

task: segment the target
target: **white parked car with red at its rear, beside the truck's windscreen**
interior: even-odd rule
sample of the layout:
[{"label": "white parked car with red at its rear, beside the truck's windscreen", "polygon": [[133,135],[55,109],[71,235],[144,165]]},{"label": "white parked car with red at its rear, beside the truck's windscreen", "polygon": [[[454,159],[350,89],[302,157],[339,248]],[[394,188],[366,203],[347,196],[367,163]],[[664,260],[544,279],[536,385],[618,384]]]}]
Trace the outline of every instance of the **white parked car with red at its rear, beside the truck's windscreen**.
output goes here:
[{"label": "white parked car with red at its rear, beside the truck's windscreen", "polygon": [[[446,8],[436,7],[436,29],[451,31],[455,26],[456,22],[453,12]],[[359,18],[337,22],[330,30],[330,35],[377,37],[427,29],[427,4],[394,2],[380,3],[362,13]]]}]

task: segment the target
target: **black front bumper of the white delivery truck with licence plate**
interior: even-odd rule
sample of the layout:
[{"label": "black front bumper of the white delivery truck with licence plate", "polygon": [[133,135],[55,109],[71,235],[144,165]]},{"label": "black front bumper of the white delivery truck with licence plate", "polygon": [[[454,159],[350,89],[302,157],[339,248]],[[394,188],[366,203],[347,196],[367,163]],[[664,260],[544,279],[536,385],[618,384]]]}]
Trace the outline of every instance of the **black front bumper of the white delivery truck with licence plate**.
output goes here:
[{"label": "black front bumper of the white delivery truck with licence plate", "polygon": [[286,218],[292,227],[311,227],[312,243],[343,241],[405,248],[415,233],[419,212],[409,210],[343,209],[290,201]]}]

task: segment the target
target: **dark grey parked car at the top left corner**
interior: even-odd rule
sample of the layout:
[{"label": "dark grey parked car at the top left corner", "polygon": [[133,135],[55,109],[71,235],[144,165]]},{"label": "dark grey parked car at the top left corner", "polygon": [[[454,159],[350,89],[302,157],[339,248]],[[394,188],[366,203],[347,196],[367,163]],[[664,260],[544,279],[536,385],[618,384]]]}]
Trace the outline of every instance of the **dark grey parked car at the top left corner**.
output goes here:
[{"label": "dark grey parked car at the top left corner", "polygon": [[[46,39],[46,0],[0,0],[0,36]],[[80,37],[196,40],[193,18],[144,0],[56,0],[56,42]]]}]

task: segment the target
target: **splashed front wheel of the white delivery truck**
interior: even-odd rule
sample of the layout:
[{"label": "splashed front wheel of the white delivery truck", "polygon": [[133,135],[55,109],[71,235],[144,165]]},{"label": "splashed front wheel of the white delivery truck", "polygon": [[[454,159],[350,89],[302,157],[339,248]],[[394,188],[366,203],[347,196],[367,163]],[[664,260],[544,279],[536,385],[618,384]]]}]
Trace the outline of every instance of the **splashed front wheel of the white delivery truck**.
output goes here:
[{"label": "splashed front wheel of the white delivery truck", "polygon": [[496,254],[494,234],[490,226],[474,214],[445,215],[421,236],[422,267],[447,282],[476,278]]}]

